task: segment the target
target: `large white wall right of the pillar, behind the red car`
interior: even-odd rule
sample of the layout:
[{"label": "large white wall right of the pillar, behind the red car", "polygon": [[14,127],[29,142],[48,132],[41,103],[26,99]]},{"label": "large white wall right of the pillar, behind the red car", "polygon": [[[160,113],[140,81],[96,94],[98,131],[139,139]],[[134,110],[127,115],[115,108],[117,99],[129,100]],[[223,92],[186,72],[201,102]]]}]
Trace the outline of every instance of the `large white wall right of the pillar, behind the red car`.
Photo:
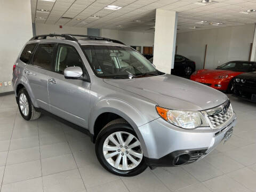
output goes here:
[{"label": "large white wall right of the pillar, behind the red car", "polygon": [[253,34],[254,25],[178,33],[177,53],[194,60],[201,69],[207,44],[205,68],[214,69],[227,61],[248,60]]}]

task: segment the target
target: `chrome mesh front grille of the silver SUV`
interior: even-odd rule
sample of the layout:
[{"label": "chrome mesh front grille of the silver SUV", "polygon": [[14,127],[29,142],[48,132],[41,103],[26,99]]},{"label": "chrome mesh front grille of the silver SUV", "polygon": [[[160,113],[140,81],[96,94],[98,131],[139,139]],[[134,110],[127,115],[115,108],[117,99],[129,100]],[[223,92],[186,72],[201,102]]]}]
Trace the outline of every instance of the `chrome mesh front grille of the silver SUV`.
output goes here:
[{"label": "chrome mesh front grille of the silver SUV", "polygon": [[210,110],[206,110],[206,117],[209,119],[212,129],[218,129],[225,124],[233,115],[233,109],[230,101]]}]

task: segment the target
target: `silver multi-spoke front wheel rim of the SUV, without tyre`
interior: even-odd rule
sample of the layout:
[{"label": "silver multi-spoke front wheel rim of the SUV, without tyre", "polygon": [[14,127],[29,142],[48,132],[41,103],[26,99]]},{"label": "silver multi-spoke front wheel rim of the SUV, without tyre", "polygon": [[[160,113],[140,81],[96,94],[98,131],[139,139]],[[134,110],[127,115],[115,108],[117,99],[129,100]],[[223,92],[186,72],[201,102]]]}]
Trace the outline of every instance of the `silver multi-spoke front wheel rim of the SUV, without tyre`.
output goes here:
[{"label": "silver multi-spoke front wheel rim of the SUV, without tyre", "polygon": [[106,161],[118,170],[137,167],[143,157],[140,141],[131,133],[118,131],[110,134],[103,143]]}]

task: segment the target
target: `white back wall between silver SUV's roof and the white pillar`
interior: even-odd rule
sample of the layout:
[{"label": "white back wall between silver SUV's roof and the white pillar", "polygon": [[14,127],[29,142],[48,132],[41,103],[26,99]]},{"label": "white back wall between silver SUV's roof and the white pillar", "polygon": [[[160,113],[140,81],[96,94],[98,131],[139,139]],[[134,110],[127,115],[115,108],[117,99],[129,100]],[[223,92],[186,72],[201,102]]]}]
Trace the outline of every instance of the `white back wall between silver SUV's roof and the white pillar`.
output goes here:
[{"label": "white back wall between silver SUV's roof and the white pillar", "polygon": [[154,44],[153,33],[101,29],[101,37],[113,38],[130,46],[153,46]]}]

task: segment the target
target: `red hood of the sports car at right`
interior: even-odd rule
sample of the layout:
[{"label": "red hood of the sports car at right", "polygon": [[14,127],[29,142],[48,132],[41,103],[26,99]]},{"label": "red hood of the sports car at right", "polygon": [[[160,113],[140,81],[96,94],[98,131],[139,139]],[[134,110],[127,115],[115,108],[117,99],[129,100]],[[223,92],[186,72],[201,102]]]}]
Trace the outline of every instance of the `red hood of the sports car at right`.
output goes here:
[{"label": "red hood of the sports car at right", "polygon": [[239,71],[230,71],[230,70],[220,70],[220,69],[201,69],[197,71],[195,76],[200,76],[201,78],[214,78],[218,76],[236,76],[243,72]]}]

